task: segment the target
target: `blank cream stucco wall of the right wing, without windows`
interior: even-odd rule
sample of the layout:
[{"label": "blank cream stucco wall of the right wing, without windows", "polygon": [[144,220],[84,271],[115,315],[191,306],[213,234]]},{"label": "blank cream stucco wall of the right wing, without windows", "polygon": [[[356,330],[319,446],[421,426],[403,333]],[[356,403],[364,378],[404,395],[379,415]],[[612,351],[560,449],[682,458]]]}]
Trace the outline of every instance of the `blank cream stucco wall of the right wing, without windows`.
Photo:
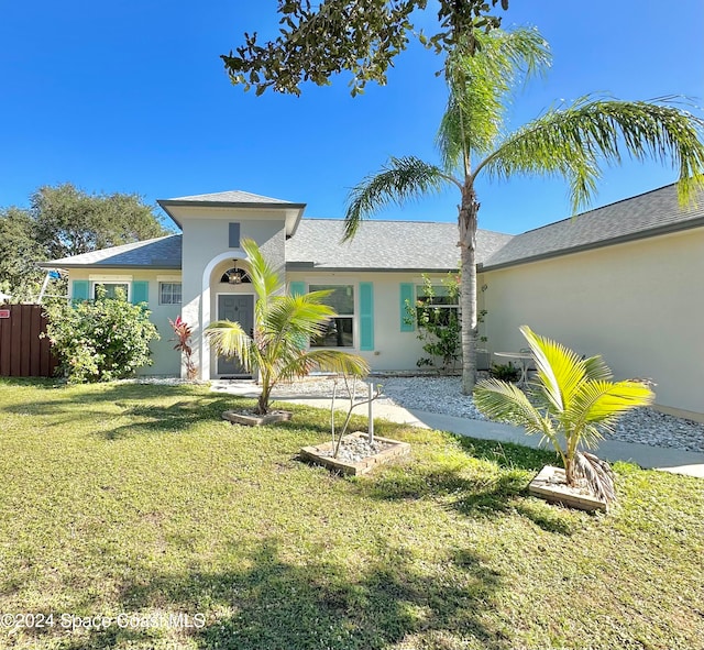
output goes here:
[{"label": "blank cream stucco wall of the right wing, without windows", "polygon": [[484,274],[491,350],[518,327],[587,356],[616,378],[649,377],[661,406],[704,412],[704,229]]}]

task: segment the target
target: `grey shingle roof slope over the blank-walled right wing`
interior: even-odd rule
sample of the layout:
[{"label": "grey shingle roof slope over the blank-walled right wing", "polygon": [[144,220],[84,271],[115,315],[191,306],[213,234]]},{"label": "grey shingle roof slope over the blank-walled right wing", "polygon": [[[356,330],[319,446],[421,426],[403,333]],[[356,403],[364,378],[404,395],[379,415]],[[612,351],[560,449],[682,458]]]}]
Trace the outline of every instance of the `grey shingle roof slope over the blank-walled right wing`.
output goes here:
[{"label": "grey shingle roof slope over the blank-walled right wing", "polygon": [[697,206],[680,208],[675,185],[668,185],[516,235],[484,262],[484,269],[704,225],[704,192]]}]

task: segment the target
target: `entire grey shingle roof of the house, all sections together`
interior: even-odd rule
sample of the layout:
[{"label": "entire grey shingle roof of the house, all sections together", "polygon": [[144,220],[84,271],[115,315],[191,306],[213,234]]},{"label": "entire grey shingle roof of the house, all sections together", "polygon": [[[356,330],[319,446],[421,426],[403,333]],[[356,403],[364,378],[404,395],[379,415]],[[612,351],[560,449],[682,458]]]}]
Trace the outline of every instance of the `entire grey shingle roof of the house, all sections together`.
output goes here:
[{"label": "entire grey shingle roof of the house, all sections together", "polygon": [[[256,197],[257,202],[261,198]],[[698,207],[683,210],[675,186],[669,185],[515,236],[480,230],[476,257],[488,271],[695,227],[704,227],[704,192]],[[341,219],[302,219],[295,236],[286,241],[286,267],[413,272],[459,267],[455,223],[364,221],[351,242],[340,243],[343,230]],[[182,235],[103,249],[41,266],[180,268]]]}]

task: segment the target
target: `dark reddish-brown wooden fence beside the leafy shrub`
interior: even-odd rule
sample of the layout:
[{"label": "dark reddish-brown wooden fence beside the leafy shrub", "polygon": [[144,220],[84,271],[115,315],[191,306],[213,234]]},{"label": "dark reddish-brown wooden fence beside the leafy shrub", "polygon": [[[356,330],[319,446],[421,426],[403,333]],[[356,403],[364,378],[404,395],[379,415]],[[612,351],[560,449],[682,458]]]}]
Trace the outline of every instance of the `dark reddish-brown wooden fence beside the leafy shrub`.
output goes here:
[{"label": "dark reddish-brown wooden fence beside the leafy shrub", "polygon": [[0,306],[0,377],[51,377],[56,360],[41,305]]}]

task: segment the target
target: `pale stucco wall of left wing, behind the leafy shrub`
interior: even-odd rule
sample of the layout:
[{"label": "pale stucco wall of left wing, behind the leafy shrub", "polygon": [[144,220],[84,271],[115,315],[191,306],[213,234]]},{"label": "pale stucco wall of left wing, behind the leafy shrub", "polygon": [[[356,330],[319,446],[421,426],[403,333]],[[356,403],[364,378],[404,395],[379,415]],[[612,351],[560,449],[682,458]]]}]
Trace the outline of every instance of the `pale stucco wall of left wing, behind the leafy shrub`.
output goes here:
[{"label": "pale stucco wall of left wing, behind the leafy shrub", "polygon": [[[152,312],[150,320],[156,326],[161,339],[152,341],[150,349],[152,350],[153,365],[145,366],[138,371],[139,375],[163,375],[178,376],[180,374],[180,355],[174,350],[174,342],[169,341],[174,335],[174,331],[168,322],[170,318],[174,320],[180,313],[180,305],[160,305],[158,304],[158,283],[161,282],[180,282],[180,272],[178,271],[135,271],[132,268],[94,268],[94,269],[72,269],[69,273],[69,291],[73,290],[73,282],[75,279],[87,279],[100,276],[103,282],[110,282],[110,277],[130,277],[132,282],[147,280],[150,283],[148,291],[148,309]],[[173,279],[166,279],[173,278]],[[178,279],[176,279],[178,278]],[[116,280],[120,282],[120,280]],[[92,291],[92,284],[91,284]],[[91,294],[92,295],[92,294]]]}]

